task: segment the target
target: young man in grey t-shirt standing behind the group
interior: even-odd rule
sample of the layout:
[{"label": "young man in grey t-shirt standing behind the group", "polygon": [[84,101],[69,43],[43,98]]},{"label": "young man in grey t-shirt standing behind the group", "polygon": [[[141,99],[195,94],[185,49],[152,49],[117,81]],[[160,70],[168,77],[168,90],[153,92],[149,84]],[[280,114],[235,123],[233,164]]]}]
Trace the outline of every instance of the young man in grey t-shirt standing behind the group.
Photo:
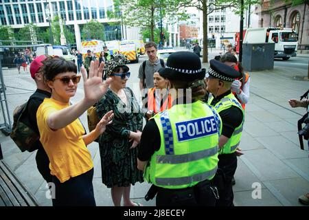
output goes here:
[{"label": "young man in grey t-shirt standing behind the group", "polygon": [[155,42],[148,42],[145,45],[148,60],[145,65],[145,73],[143,63],[139,67],[139,89],[150,89],[155,87],[153,84],[153,74],[158,72],[162,67],[160,59],[157,57],[157,45]]}]

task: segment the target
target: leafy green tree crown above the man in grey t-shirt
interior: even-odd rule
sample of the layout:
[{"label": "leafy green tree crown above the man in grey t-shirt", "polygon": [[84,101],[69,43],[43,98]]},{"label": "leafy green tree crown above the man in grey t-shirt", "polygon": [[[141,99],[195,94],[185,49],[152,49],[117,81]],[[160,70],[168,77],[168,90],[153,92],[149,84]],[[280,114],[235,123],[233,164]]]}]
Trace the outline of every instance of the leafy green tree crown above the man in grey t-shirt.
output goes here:
[{"label": "leafy green tree crown above the man in grey t-shirt", "polygon": [[183,0],[114,0],[115,12],[108,16],[122,19],[124,25],[139,27],[150,32],[150,41],[155,40],[155,28],[160,27],[161,19],[169,23],[187,19]]}]

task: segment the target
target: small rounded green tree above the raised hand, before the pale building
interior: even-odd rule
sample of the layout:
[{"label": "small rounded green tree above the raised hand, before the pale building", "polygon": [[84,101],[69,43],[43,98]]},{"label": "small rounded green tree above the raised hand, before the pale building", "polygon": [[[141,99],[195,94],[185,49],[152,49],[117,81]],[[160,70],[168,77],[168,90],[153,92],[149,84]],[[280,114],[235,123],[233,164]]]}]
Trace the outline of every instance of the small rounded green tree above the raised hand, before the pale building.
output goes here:
[{"label": "small rounded green tree above the raised hand, before the pale building", "polygon": [[104,25],[99,21],[91,20],[82,28],[82,40],[97,39],[104,41]]}]

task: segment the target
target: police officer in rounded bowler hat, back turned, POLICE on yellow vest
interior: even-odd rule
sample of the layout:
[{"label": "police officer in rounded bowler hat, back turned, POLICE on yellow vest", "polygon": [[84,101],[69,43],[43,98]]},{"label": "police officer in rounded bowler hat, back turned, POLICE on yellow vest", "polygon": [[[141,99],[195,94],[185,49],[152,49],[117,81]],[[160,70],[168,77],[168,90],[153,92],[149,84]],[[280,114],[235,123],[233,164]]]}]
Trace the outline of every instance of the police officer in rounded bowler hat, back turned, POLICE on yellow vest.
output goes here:
[{"label": "police officer in rounded bowler hat, back turned, POLICE on yellow vest", "polygon": [[138,168],[157,187],[157,206],[214,206],[218,193],[209,181],[218,167],[222,123],[213,107],[198,100],[205,96],[205,69],[196,54],[175,52],[159,74],[170,81],[174,102],[146,124]]}]

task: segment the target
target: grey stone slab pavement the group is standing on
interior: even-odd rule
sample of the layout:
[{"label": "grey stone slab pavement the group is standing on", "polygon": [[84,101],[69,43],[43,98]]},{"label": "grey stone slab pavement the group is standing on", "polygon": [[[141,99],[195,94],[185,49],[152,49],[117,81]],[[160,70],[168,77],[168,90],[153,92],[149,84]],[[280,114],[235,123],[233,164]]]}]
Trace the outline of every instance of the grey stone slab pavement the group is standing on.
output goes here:
[{"label": "grey stone slab pavement the group is standing on", "polygon": [[[299,98],[309,87],[308,81],[296,81],[293,76],[306,74],[301,69],[291,67],[275,67],[271,72],[251,73],[251,97],[240,144],[244,155],[238,159],[236,185],[233,186],[236,206],[301,206],[297,201],[299,195],[309,192],[308,147],[306,151],[300,150],[297,135],[297,120],[306,111],[304,108],[292,109],[288,105],[289,98]],[[10,83],[15,85],[14,88],[8,87],[7,93],[18,92],[19,88],[35,89],[29,74],[7,80],[14,81]],[[82,95],[80,87],[73,101]],[[10,112],[29,96],[10,95]],[[87,124],[85,114],[81,120]],[[51,201],[45,197],[46,183],[36,168],[35,153],[21,153],[10,137],[2,133],[0,142],[4,162],[14,170],[41,206],[51,206]],[[113,206],[110,190],[100,178],[98,144],[90,144],[89,150],[95,166],[93,186],[97,204]],[[261,187],[260,198],[253,199],[252,195],[259,196],[253,191],[257,186]],[[154,206],[155,201],[144,200],[148,188],[146,183],[136,184],[130,197],[145,206]]]}]

